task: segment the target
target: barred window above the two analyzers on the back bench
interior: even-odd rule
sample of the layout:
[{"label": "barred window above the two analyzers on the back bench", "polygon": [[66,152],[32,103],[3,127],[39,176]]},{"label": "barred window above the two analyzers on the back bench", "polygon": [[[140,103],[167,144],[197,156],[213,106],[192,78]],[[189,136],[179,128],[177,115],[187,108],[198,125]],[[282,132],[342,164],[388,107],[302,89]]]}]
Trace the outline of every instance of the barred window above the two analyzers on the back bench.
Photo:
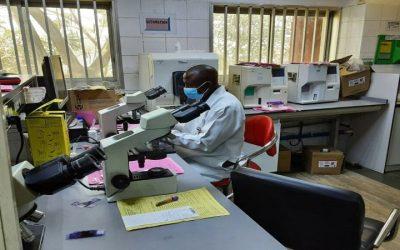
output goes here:
[{"label": "barred window above the two analyzers on the back bench", "polygon": [[[239,62],[285,64],[332,59],[337,8],[214,5],[212,44],[221,76]],[[223,77],[226,80],[227,77]]]}]

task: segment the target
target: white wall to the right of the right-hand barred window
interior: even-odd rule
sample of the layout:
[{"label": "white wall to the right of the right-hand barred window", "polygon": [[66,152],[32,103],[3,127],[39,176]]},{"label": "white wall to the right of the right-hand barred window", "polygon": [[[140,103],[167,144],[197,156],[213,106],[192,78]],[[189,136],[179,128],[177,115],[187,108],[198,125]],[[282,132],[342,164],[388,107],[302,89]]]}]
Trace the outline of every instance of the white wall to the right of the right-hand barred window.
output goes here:
[{"label": "white wall to the right of the right-hand barred window", "polygon": [[365,4],[343,8],[338,57],[353,55],[371,60],[375,56],[377,36],[399,35],[388,31],[388,21],[400,21],[400,1],[367,0]]}]

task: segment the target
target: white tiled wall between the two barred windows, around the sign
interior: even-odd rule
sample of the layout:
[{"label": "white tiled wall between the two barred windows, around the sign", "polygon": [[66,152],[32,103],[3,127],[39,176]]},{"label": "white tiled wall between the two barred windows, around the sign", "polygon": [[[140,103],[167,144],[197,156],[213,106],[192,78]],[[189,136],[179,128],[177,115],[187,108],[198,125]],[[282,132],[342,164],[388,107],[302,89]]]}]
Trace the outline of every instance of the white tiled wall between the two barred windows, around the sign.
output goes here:
[{"label": "white tiled wall between the two barred windows, around the sign", "polygon": [[[138,55],[182,49],[209,50],[210,3],[342,6],[347,0],[115,0],[125,88],[138,89]],[[175,14],[176,34],[143,34],[140,13]]]}]

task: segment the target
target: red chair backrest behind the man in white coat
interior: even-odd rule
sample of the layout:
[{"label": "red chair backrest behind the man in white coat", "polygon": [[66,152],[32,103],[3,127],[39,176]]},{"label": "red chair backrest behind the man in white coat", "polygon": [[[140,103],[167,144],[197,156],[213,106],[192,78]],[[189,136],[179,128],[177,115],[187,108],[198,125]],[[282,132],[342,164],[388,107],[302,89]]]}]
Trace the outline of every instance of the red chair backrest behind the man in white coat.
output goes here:
[{"label": "red chair backrest behind the man in white coat", "polygon": [[[251,116],[246,119],[244,140],[262,147],[272,140],[274,132],[274,121],[270,117],[265,115]],[[276,154],[276,146],[268,149],[267,154],[274,156]]]}]

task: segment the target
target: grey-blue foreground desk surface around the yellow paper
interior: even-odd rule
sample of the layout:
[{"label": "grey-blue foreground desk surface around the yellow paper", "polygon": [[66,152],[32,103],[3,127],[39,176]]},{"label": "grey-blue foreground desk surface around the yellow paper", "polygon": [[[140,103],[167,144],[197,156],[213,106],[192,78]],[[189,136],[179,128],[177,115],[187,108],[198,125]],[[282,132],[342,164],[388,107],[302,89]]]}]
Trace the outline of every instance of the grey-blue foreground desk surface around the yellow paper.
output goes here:
[{"label": "grey-blue foreground desk surface around the yellow paper", "polygon": [[[206,186],[230,215],[127,232],[115,203],[107,203],[104,195],[93,195],[76,184],[37,200],[38,209],[46,213],[41,221],[46,226],[43,249],[285,249],[179,156],[171,157],[185,169],[178,177],[179,191]],[[70,205],[94,196],[102,198],[94,208]],[[88,229],[104,229],[106,233],[99,238],[64,239],[68,233]]]}]

